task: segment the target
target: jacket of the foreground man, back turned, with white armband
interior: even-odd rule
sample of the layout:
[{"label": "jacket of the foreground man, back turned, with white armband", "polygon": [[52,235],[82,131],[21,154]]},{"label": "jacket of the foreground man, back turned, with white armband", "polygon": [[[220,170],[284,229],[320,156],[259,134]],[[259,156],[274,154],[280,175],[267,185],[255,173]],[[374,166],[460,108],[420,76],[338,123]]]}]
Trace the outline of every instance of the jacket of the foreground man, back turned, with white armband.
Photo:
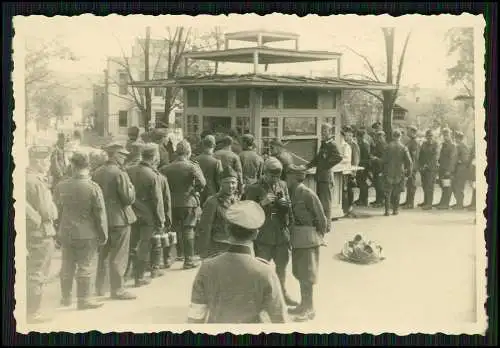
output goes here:
[{"label": "jacket of the foreground man, back turned, with white armband", "polygon": [[199,323],[284,323],[286,305],[274,267],[253,256],[247,246],[204,261],[196,274],[188,318]]}]

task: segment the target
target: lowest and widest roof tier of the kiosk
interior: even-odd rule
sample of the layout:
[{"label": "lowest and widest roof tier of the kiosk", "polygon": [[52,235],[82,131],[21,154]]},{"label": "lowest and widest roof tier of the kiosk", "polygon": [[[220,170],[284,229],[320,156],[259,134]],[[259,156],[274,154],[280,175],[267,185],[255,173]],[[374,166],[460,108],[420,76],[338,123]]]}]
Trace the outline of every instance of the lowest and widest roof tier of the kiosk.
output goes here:
[{"label": "lowest and widest roof tier of the kiosk", "polygon": [[265,74],[184,76],[175,80],[149,80],[131,83],[136,87],[290,87],[317,89],[394,90],[396,86],[383,82],[334,77],[278,76]]}]

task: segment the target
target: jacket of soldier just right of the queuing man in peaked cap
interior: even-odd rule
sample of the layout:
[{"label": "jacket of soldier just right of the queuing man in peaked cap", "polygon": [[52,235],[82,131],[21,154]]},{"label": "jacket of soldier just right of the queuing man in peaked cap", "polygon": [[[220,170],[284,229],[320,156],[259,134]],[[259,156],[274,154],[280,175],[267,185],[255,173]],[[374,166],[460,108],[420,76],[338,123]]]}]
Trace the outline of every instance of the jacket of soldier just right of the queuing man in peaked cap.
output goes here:
[{"label": "jacket of soldier just right of the queuing man in peaked cap", "polygon": [[162,227],[165,223],[165,209],[161,183],[155,169],[146,162],[129,167],[127,173],[135,187],[135,201],[132,205],[139,223]]}]

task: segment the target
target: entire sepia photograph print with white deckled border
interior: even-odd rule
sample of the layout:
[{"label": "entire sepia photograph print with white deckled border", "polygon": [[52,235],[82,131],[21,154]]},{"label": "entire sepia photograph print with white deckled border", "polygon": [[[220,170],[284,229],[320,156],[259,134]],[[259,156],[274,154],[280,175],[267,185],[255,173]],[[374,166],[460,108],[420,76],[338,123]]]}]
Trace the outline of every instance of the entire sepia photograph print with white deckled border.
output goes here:
[{"label": "entire sepia photograph print with white deckled border", "polygon": [[14,17],[17,331],[484,335],[484,29]]}]

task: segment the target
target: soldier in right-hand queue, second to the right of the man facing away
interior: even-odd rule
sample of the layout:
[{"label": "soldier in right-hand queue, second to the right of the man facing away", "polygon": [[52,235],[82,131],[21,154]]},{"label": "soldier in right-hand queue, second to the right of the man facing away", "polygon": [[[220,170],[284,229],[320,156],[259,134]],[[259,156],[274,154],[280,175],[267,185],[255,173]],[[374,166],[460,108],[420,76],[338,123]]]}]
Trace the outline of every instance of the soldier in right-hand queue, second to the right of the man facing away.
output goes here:
[{"label": "soldier in right-hand queue, second to the right of the man facing away", "polygon": [[420,147],[418,163],[424,191],[424,201],[419,206],[424,210],[429,210],[432,209],[434,200],[434,184],[436,183],[438,169],[438,143],[434,140],[431,129],[425,132],[425,141]]}]

